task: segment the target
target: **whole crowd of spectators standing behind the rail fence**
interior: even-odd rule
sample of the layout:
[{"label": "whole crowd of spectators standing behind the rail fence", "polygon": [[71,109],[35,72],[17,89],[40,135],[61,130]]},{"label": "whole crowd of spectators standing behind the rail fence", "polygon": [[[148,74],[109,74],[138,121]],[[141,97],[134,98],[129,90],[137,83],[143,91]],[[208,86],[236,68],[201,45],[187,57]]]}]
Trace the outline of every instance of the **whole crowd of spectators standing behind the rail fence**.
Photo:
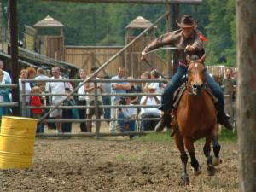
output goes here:
[{"label": "whole crowd of spectators standing behind the rail fence", "polygon": [[[95,73],[97,67],[92,67],[90,75]],[[20,71],[19,88],[20,88],[20,115],[41,119],[42,116],[49,111],[47,108],[38,108],[46,106],[56,106],[73,91],[73,85],[67,81],[46,82],[51,79],[66,79],[67,74],[62,74],[59,67],[51,68],[51,76],[46,75],[43,68],[35,69],[27,67]],[[87,79],[84,69],[79,70],[79,78]],[[104,77],[103,79],[110,79]],[[140,79],[161,79],[160,73],[157,70],[146,71]],[[36,82],[26,82],[21,84],[23,79],[35,79]],[[92,79],[100,79],[95,74]],[[110,132],[117,131],[135,131],[136,129],[143,131],[153,131],[155,125],[160,118],[160,95],[165,88],[162,82],[137,82],[132,81],[133,77],[125,78],[125,68],[119,67],[117,74],[111,78],[111,83],[94,83],[87,82],[81,85],[79,82],[79,90],[77,96],[68,96],[66,101],[62,101],[63,106],[84,106],[84,108],[55,108],[48,119],[84,119],[84,122],[79,123],[81,132],[91,132],[93,115],[96,115],[96,110],[93,106],[112,106],[111,108],[98,108],[100,118],[106,120],[109,125]],[[38,80],[43,80],[38,81]],[[117,82],[115,82],[117,80]],[[9,73],[3,71],[3,61],[0,61],[0,84],[11,84]],[[232,69],[228,68],[225,71],[222,82],[225,98],[225,112],[230,114],[231,120],[234,120],[234,98],[236,94],[236,79],[233,76]],[[96,90],[97,88],[97,90]],[[23,90],[25,89],[25,90]],[[26,97],[22,96],[25,91]],[[11,89],[0,89],[0,102],[11,102]],[[30,95],[30,94],[35,95]],[[52,96],[45,96],[45,93],[50,93]],[[99,94],[95,96],[94,94]],[[145,93],[147,96],[139,96],[137,94]],[[39,94],[39,95],[37,95]],[[117,95],[115,95],[117,94]],[[125,96],[125,94],[128,94]],[[134,94],[134,95],[133,95]],[[96,104],[97,100],[97,104]],[[25,101],[25,103],[24,103]],[[139,107],[137,107],[139,105]],[[148,107],[148,106],[153,107]],[[34,108],[26,108],[32,106]],[[124,108],[122,106],[125,106]],[[143,107],[144,106],[144,107]],[[89,108],[86,108],[89,107]],[[0,108],[0,115],[11,114],[11,109],[7,107]],[[95,117],[97,118],[97,117]],[[141,119],[141,120],[137,120]],[[99,126],[101,121],[97,121]],[[139,122],[139,123],[137,123]],[[38,125],[37,132],[44,133],[44,126],[49,129],[56,129],[57,133],[71,132],[72,123],[60,121],[53,123],[41,123]],[[137,127],[139,126],[139,127]]]}]

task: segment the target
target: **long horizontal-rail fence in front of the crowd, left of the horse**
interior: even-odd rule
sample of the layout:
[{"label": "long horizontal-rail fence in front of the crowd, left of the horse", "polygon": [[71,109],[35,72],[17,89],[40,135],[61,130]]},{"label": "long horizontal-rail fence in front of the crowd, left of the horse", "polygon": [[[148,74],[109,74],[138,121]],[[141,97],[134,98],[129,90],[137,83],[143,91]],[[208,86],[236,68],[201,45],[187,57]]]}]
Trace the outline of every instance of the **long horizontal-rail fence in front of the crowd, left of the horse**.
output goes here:
[{"label": "long horizontal-rail fence in front of the crowd, left of the horse", "polygon": [[[69,82],[69,83],[79,83],[79,82],[83,82],[84,79],[48,79],[48,80],[33,80],[33,79],[26,79],[26,80],[21,80],[22,86],[23,88],[25,88],[25,84],[27,82],[29,83],[33,83],[36,84],[38,82],[44,82],[45,84],[49,83],[49,82]],[[166,83],[166,79],[90,79],[88,81],[88,83],[94,83],[95,87],[98,87],[98,84],[102,84],[102,83],[118,83],[118,82],[127,82],[127,83],[131,83],[131,82],[135,82],[135,83]],[[55,106],[53,105],[46,105],[46,106],[42,106],[42,107],[32,107],[31,105],[27,105],[26,104],[26,96],[67,96],[67,94],[51,94],[49,92],[46,92],[44,94],[34,94],[34,93],[30,93],[30,94],[26,94],[25,89],[22,89],[23,92],[21,93],[22,95],[22,104],[24,105],[23,107],[23,115],[25,114],[25,110],[26,108],[43,108],[43,109],[50,109],[50,108],[54,108]],[[73,93],[73,96],[84,96],[81,94],[77,94],[77,93]],[[155,94],[148,94],[148,93],[122,93],[122,94],[118,94],[118,93],[99,93],[98,89],[95,89],[95,92],[93,94],[86,94],[85,96],[95,96],[95,101],[99,101],[99,96],[160,96],[160,94],[155,93]],[[116,104],[116,105],[98,105],[97,102],[95,102],[96,104],[94,106],[79,106],[79,105],[75,105],[75,106],[58,106],[57,109],[89,109],[89,108],[94,108],[95,109],[95,119],[46,119],[44,120],[44,122],[49,122],[49,123],[56,123],[56,122],[61,122],[61,123],[66,123],[66,122],[72,122],[72,123],[85,123],[87,121],[94,121],[96,124],[96,133],[79,133],[79,134],[74,134],[74,133],[67,133],[65,135],[67,136],[89,136],[89,137],[102,137],[102,136],[124,136],[124,135],[141,135],[141,134],[145,134],[148,131],[141,131],[140,129],[137,128],[137,131],[125,131],[125,132],[121,132],[121,133],[103,133],[101,132],[101,127],[99,125],[100,121],[117,121],[117,120],[125,120],[125,119],[102,119],[101,116],[99,115],[99,111],[100,109],[105,109],[105,108],[158,108],[160,105],[141,105],[141,104],[134,104],[132,106],[128,106],[128,105],[120,105],[120,104]],[[137,122],[140,122],[142,120],[158,120],[159,118],[147,118],[147,119],[142,119],[139,116],[137,116],[136,120]],[[62,136],[60,134],[37,134],[38,136]]]}]

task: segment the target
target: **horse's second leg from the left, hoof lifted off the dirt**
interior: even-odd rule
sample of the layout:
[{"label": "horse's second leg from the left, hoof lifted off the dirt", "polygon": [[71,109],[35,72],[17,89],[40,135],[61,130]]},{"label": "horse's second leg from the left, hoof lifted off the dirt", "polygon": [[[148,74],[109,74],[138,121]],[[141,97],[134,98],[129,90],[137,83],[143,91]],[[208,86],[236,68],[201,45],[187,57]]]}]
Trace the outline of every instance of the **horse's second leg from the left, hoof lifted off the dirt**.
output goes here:
[{"label": "horse's second leg from the left, hoof lifted off the dirt", "polygon": [[198,163],[198,160],[196,160],[195,158],[195,148],[194,148],[194,143],[190,138],[184,138],[184,143],[185,146],[187,148],[187,150],[189,151],[189,156],[191,159],[191,166],[193,167],[193,172],[194,175],[200,175],[201,174],[201,166]]}]

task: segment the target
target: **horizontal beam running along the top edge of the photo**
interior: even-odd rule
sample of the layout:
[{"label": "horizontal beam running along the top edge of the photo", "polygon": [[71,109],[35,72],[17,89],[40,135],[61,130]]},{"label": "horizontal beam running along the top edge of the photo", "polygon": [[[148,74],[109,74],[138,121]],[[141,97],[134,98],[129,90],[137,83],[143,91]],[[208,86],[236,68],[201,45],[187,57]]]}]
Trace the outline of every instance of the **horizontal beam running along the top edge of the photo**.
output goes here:
[{"label": "horizontal beam running along the top edge of the photo", "polygon": [[203,0],[42,0],[48,2],[72,2],[72,3],[138,3],[138,4],[166,4],[185,3],[200,4]]}]

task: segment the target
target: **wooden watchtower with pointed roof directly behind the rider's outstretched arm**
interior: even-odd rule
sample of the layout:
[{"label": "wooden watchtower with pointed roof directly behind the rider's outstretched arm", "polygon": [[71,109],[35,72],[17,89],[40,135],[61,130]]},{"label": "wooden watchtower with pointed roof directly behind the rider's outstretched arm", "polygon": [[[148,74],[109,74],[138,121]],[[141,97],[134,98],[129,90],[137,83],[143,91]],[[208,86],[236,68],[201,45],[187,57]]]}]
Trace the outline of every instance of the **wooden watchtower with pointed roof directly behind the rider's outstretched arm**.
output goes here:
[{"label": "wooden watchtower with pointed roof directly behind the rider's outstretched arm", "polygon": [[[131,40],[137,37],[137,34],[151,25],[152,23],[142,16],[138,16],[135,20],[132,20],[131,23],[126,26],[125,45],[129,44]],[[156,54],[147,56],[151,67],[149,67],[145,61],[140,60],[141,52],[145,46],[155,38],[155,29],[156,26],[125,51],[125,69],[128,75],[137,78],[140,77],[143,72],[147,70],[151,71],[153,68],[158,69],[160,72],[166,71],[166,63]]]}]

